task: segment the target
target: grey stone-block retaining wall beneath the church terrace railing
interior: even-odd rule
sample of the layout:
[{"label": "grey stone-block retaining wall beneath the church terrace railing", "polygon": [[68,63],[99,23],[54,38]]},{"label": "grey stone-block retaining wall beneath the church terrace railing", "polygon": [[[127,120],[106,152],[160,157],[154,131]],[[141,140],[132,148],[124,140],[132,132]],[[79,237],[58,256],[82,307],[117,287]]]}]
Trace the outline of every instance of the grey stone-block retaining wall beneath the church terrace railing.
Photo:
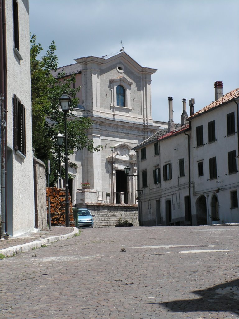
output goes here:
[{"label": "grey stone-block retaining wall beneath the church terrace railing", "polygon": [[94,227],[114,227],[120,218],[139,226],[137,205],[84,204],[81,208],[88,208],[95,215]]}]

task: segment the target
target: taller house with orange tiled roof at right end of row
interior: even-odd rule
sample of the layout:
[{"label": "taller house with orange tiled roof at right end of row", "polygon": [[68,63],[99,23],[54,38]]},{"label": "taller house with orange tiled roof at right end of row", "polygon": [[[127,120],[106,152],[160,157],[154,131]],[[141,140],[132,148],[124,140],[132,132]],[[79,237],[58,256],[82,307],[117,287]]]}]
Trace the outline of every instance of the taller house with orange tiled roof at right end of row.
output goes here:
[{"label": "taller house with orange tiled roof at right end of row", "polygon": [[239,88],[222,95],[215,82],[215,102],[191,115],[192,223],[239,222]]}]

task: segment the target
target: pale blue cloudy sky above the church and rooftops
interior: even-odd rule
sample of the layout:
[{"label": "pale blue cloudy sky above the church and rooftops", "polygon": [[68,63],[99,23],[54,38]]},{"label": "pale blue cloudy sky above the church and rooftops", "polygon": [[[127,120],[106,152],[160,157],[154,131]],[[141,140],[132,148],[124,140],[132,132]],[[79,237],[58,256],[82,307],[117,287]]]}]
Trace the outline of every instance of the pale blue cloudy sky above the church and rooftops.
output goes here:
[{"label": "pale blue cloudy sky above the church and rooftops", "polygon": [[[29,0],[30,32],[47,50],[57,46],[59,66],[81,56],[125,51],[152,75],[152,114],[181,122],[182,99],[197,111],[239,87],[238,0]],[[44,52],[45,53],[45,52]],[[187,111],[189,113],[188,101]]]}]

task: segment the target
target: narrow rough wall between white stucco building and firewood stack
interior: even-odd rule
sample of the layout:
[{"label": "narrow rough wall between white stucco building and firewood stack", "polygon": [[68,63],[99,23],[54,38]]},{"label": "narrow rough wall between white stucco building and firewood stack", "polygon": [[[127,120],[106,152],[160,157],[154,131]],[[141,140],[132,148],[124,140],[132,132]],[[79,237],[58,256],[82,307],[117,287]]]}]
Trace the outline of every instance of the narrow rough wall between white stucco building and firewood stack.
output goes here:
[{"label": "narrow rough wall between white stucco building and firewood stack", "polygon": [[42,161],[36,158],[33,158],[33,167],[35,195],[35,228],[46,229],[46,167]]}]

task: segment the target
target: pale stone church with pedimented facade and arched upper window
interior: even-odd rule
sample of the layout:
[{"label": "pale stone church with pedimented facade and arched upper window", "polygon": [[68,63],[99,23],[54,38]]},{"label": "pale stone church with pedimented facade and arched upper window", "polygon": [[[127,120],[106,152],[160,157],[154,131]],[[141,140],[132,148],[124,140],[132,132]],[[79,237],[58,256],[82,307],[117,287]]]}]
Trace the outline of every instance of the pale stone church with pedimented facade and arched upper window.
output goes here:
[{"label": "pale stone church with pedimented facade and arched upper window", "polygon": [[[98,192],[98,200],[100,192],[137,193],[137,152],[132,148],[166,127],[166,123],[152,119],[151,75],[156,69],[142,67],[124,49],[75,61],[53,75],[62,71],[66,77],[76,74],[75,85],[81,89],[74,114],[93,120],[88,137],[103,149],[94,153],[83,149],[71,156],[70,161],[77,165],[69,167],[72,202],[76,203],[82,182],[90,183],[90,188]],[[127,165],[130,176],[124,172]],[[117,194],[114,202],[119,203]]]}]

